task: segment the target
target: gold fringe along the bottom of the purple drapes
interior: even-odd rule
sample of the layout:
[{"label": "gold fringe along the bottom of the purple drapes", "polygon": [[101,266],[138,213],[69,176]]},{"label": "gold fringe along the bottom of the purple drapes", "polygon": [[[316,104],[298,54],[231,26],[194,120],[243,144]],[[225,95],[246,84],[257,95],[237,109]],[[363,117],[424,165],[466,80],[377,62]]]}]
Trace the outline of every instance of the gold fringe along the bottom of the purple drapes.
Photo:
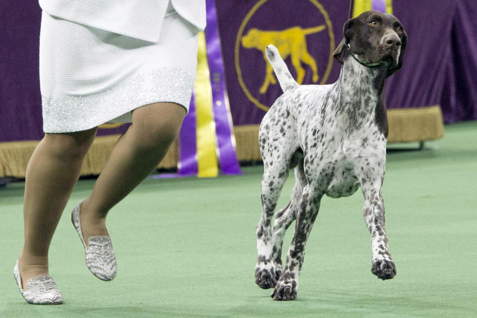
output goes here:
[{"label": "gold fringe along the bottom of the purple drapes", "polygon": [[[388,143],[425,142],[444,136],[444,122],[439,105],[388,110]],[[234,127],[237,159],[261,160],[258,148],[258,125]],[[81,175],[97,175],[106,164],[120,135],[96,137],[81,167]],[[24,178],[26,166],[39,141],[0,143],[0,177]],[[158,168],[176,168],[178,145],[174,141]]]}]

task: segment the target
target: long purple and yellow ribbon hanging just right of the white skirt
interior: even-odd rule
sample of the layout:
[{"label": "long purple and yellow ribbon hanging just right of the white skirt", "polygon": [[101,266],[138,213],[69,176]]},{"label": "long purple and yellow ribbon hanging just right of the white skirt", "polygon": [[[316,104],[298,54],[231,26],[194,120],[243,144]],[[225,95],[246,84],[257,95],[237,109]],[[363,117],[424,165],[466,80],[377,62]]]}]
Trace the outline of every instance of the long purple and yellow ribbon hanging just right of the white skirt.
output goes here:
[{"label": "long purple and yellow ribbon hanging just right of the white skirt", "polygon": [[197,78],[179,134],[179,176],[241,174],[213,0],[206,1],[207,27],[199,33]]}]

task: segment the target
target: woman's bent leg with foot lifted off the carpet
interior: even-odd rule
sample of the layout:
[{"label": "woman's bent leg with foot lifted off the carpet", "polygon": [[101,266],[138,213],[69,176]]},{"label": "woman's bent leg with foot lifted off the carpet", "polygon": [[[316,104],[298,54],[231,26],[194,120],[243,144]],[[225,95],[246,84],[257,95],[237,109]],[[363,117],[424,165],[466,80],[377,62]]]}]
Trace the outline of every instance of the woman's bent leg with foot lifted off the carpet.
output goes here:
[{"label": "woman's bent leg with foot lifted off the carpet", "polygon": [[118,140],[91,195],[80,208],[84,241],[107,236],[108,211],[146,178],[179,134],[185,109],[175,103],[155,103],[133,111],[133,124]]}]

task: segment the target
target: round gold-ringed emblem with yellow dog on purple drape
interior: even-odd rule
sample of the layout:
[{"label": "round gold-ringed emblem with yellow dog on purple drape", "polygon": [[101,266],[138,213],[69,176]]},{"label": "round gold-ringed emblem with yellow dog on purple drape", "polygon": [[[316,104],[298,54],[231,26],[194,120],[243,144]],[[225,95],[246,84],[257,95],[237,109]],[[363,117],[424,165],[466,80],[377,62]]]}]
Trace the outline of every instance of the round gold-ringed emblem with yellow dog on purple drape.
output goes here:
[{"label": "round gold-ringed emblem with yellow dog on purple drape", "polygon": [[[305,24],[304,14],[316,17]],[[247,98],[265,111],[270,99],[266,92],[277,83],[266,60],[265,48],[269,44],[277,47],[286,62],[291,62],[287,65],[299,84],[324,84],[328,79],[333,65],[334,34],[328,13],[317,0],[259,0],[240,25],[235,43],[239,84]]]}]

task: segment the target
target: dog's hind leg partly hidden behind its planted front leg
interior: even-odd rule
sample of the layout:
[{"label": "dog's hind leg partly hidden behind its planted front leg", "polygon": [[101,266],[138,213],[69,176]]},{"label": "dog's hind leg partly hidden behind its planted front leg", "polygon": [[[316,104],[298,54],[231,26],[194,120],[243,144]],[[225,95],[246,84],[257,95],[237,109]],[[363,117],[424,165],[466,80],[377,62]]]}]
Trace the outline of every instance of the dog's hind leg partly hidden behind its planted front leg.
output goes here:
[{"label": "dog's hind leg partly hidden behind its planted front leg", "polygon": [[295,185],[293,187],[290,202],[275,215],[272,234],[272,257],[275,263],[275,279],[278,280],[282,274],[282,246],[283,237],[288,227],[297,218],[300,199],[303,194],[303,188],[307,184],[307,178],[303,171],[303,160],[298,162],[295,167]]}]

